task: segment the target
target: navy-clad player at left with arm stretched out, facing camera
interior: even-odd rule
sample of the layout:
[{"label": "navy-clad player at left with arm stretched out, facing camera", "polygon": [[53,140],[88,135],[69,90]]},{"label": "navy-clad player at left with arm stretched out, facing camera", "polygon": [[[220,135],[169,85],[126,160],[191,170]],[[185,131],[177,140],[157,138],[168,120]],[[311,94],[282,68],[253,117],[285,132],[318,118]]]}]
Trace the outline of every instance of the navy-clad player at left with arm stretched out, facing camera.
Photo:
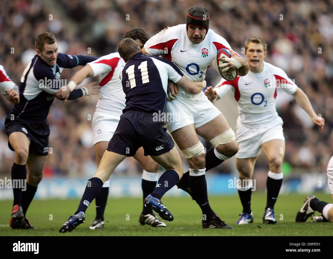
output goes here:
[{"label": "navy-clad player at left with arm stretched out, facing camera", "polygon": [[[8,146],[15,151],[11,175],[13,182],[26,179],[26,190],[13,188],[14,203],[10,226],[34,228],[25,214],[43,177],[43,169],[49,152],[50,129],[47,115],[54,93],[62,87],[60,73],[64,68],[86,65],[96,60],[92,56],[58,53],[53,34],[44,32],[35,40],[37,55],[25,68],[19,85],[20,102],[15,104],[5,120]],[[74,90],[68,99],[98,93],[95,83]]]}]

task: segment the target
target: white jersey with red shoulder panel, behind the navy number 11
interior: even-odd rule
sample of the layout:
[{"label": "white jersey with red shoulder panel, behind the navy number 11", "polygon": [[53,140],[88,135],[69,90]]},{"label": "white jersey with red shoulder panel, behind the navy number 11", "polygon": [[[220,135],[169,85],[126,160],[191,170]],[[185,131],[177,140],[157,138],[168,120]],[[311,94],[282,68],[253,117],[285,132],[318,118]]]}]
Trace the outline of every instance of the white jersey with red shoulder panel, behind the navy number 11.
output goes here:
[{"label": "white jersey with red shoulder panel, behind the navy number 11", "polygon": [[122,72],[125,62],[118,52],[110,53],[93,62],[88,63],[94,76],[100,75],[100,97],[96,105],[96,111],[112,111],[119,117],[125,108],[125,93],[119,75]]}]

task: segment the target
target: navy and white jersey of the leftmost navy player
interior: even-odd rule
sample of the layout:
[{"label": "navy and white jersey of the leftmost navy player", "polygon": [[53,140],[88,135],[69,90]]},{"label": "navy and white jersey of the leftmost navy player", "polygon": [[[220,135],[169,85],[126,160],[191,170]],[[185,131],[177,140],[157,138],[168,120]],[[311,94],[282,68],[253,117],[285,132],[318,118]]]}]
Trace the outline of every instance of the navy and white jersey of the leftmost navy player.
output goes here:
[{"label": "navy and white jersey of the leftmost navy player", "polygon": [[[22,74],[19,85],[20,103],[15,104],[10,112],[14,114],[14,120],[34,124],[46,122],[54,93],[64,85],[60,80],[61,72],[65,68],[83,66],[94,60],[96,57],[58,53],[56,65],[50,66],[36,54]],[[81,96],[82,90],[75,89],[68,99]]]}]

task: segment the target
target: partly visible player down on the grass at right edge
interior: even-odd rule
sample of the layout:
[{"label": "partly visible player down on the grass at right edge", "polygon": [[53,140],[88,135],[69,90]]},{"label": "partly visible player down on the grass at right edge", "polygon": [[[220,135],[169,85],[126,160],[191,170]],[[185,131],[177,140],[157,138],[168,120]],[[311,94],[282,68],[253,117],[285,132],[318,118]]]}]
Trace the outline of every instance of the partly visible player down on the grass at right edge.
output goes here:
[{"label": "partly visible player down on the grass at right edge", "polygon": [[[327,184],[333,200],[333,156],[327,165]],[[333,222],[333,204],[320,201],[314,195],[305,198],[302,208],[299,209],[296,215],[296,222],[305,222],[315,211],[322,213],[322,215],[313,216],[312,222]]]}]

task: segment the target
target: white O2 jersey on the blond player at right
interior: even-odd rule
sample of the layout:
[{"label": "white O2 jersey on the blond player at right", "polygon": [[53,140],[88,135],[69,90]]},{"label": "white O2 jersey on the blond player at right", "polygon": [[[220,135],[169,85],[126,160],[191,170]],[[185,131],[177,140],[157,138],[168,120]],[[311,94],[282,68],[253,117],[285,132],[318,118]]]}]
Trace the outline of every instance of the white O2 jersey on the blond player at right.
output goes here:
[{"label": "white O2 jersey on the blond player at right", "polygon": [[260,73],[249,71],[232,81],[221,79],[214,90],[222,98],[230,90],[238,106],[237,123],[249,128],[263,128],[278,116],[276,112],[276,90],[282,88],[287,94],[293,94],[297,85],[278,67],[264,62]]}]

